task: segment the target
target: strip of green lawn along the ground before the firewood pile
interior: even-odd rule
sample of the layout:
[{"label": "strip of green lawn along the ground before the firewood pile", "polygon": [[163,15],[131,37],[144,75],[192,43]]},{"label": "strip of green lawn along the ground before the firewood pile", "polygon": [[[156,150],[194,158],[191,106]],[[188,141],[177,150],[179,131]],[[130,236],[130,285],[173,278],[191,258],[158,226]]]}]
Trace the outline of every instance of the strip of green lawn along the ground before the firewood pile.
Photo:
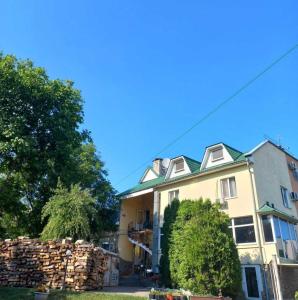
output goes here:
[{"label": "strip of green lawn along the ground before the firewood pile", "polygon": [[[145,300],[146,298],[105,294],[102,292],[70,292],[52,290],[49,300]],[[34,300],[34,289],[0,288],[0,300]]]}]

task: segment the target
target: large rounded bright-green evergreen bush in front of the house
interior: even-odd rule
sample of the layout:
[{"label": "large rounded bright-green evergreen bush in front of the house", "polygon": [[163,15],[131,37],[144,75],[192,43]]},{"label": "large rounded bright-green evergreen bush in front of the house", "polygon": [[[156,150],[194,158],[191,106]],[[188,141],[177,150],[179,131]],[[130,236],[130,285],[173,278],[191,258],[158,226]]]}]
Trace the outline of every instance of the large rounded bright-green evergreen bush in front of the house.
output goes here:
[{"label": "large rounded bright-green evergreen bush in front of the house", "polygon": [[240,261],[228,216],[209,200],[183,201],[170,237],[174,285],[194,293],[235,296],[241,286]]}]

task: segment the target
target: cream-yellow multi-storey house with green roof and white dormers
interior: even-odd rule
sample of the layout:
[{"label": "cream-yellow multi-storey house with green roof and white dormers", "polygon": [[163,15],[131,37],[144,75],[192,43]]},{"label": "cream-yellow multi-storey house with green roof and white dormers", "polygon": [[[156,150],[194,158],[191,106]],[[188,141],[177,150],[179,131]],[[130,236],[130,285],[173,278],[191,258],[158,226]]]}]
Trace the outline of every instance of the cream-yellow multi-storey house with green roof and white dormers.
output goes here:
[{"label": "cream-yellow multi-storey house with green roof and white dormers", "polygon": [[165,208],[175,198],[202,197],[220,202],[231,219],[246,298],[293,299],[298,290],[296,166],[293,155],[268,140],[247,153],[225,143],[211,145],[201,161],[184,155],[155,159],[140,182],[120,194],[120,272],[143,264],[158,273]]}]

